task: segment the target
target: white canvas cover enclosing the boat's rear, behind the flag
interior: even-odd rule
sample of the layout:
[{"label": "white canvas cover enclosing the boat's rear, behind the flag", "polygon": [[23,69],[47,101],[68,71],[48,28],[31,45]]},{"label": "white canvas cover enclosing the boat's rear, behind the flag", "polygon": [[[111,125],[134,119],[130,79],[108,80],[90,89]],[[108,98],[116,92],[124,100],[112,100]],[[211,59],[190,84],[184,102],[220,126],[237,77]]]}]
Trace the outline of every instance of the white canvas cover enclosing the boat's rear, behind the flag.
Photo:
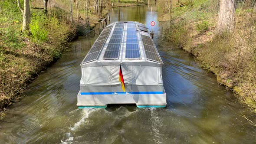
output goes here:
[{"label": "white canvas cover enclosing the boat's rear, behind the flag", "polygon": [[[121,65],[126,85],[163,85],[161,67]],[[82,68],[80,85],[118,85],[120,65]]]}]

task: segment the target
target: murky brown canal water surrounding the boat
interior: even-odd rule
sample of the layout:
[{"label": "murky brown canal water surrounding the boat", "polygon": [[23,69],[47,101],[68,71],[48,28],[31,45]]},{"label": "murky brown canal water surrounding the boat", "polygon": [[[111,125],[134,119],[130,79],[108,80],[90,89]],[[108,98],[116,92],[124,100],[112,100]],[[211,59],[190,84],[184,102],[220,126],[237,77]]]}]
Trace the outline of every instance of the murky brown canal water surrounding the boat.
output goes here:
[{"label": "murky brown canal water surrounding the boat", "polygon": [[[134,20],[147,26],[158,17],[151,7],[120,8],[109,14],[112,22]],[[154,26],[154,42],[164,61],[166,108],[77,109],[79,64],[95,41],[92,34],[72,42],[62,58],[30,85],[24,98],[8,109],[0,122],[0,144],[255,144],[256,128],[239,116],[253,114],[187,52],[161,41],[164,26],[158,22]],[[255,121],[255,116],[249,118]]]}]

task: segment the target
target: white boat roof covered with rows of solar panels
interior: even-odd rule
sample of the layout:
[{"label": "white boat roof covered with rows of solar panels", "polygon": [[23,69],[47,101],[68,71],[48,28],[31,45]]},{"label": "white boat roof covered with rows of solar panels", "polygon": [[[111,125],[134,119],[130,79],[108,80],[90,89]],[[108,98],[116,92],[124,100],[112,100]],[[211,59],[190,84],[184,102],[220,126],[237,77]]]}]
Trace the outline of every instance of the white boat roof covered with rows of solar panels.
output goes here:
[{"label": "white boat roof covered with rows of solar panels", "polygon": [[163,65],[148,28],[133,21],[115,22],[103,29],[81,65],[95,62],[151,62]]}]

